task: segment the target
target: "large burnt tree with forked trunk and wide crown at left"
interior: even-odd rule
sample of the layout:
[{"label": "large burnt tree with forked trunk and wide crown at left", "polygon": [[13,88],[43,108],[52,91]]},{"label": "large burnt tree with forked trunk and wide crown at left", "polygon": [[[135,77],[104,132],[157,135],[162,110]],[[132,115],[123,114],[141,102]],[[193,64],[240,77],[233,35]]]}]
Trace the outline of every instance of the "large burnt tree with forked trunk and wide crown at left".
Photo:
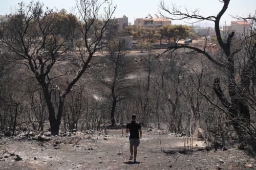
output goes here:
[{"label": "large burnt tree with forked trunk and wide crown at left", "polygon": [[[48,8],[44,10],[39,2],[31,2],[28,6],[20,3],[17,12],[6,18],[0,41],[41,86],[52,135],[59,134],[66,96],[88,69],[94,54],[107,44],[102,42],[103,34],[115,8],[111,2],[80,0],[77,1],[77,18],[65,17]],[[67,18],[76,23],[75,28],[67,28]],[[67,61],[78,61],[78,64],[55,74],[56,66]],[[57,83],[67,75],[71,80],[67,80],[65,86]],[[54,90],[58,91],[56,101],[52,98]]]}]

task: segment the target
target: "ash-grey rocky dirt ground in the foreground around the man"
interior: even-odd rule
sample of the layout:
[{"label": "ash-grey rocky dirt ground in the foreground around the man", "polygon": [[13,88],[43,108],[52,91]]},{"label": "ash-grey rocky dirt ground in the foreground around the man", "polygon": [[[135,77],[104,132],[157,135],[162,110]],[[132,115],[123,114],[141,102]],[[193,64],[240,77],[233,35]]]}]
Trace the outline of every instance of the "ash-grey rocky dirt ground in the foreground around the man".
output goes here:
[{"label": "ash-grey rocky dirt ground in the foreground around the man", "polygon": [[[129,140],[122,130],[64,133],[62,136],[2,137],[0,169],[255,169],[256,159],[244,151],[205,150],[202,140],[193,139],[193,152],[183,154],[184,137],[162,131],[144,131],[138,148],[138,163],[128,158]],[[160,145],[161,141],[161,145]],[[189,144],[190,145],[190,144]],[[175,151],[165,154],[163,151]]]}]

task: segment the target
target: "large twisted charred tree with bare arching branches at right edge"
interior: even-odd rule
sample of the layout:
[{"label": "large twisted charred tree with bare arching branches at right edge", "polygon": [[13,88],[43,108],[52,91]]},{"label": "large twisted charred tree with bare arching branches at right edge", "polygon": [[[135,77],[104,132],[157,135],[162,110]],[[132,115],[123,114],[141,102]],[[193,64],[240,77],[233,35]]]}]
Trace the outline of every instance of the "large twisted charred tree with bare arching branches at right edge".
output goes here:
[{"label": "large twisted charred tree with bare arching branches at right edge", "polygon": [[[189,12],[188,10],[185,10],[185,12],[182,12],[179,8],[176,6],[173,6],[172,8],[168,8],[164,1],[161,1],[160,8],[167,12],[170,16],[165,16],[169,19],[173,20],[183,20],[183,19],[191,19],[195,20],[194,22],[199,22],[203,20],[212,21],[215,23],[215,32],[217,36],[217,41],[221,47],[221,50],[224,53],[225,61],[217,59],[213,57],[207,50],[207,43],[205,43],[204,48],[199,48],[193,45],[178,45],[173,44],[166,48],[166,52],[168,51],[175,51],[179,48],[187,48],[190,50],[190,52],[196,52],[203,54],[205,57],[207,57],[212,63],[217,65],[219,70],[224,70],[227,73],[228,78],[228,96],[223,92],[221,87],[220,78],[216,78],[214,80],[214,90],[216,95],[218,96],[218,99],[221,101],[222,105],[225,108],[225,113],[230,119],[230,122],[238,133],[238,136],[240,138],[240,141],[244,140],[244,134],[242,133],[244,130],[250,131],[251,128],[251,121],[250,121],[250,109],[249,109],[249,102],[248,98],[246,96],[246,91],[250,90],[250,86],[252,84],[254,71],[253,67],[255,67],[255,40],[250,41],[252,43],[252,47],[250,49],[250,57],[248,60],[244,60],[246,62],[245,66],[242,67],[240,80],[237,81],[237,66],[234,62],[235,56],[239,54],[239,52],[242,50],[242,46],[236,46],[233,45],[234,37],[236,35],[235,31],[232,31],[227,35],[226,40],[224,40],[221,36],[220,32],[220,19],[223,16],[223,14],[226,12],[230,0],[222,0],[220,1],[223,3],[223,7],[220,10],[220,12],[217,15],[211,15],[211,16],[202,16],[199,14],[198,10]],[[255,34],[254,34],[255,35]],[[252,36],[253,37],[253,36]],[[248,37],[246,37],[248,38]],[[255,36],[254,36],[255,38]],[[255,130],[255,129],[254,129]]]}]

